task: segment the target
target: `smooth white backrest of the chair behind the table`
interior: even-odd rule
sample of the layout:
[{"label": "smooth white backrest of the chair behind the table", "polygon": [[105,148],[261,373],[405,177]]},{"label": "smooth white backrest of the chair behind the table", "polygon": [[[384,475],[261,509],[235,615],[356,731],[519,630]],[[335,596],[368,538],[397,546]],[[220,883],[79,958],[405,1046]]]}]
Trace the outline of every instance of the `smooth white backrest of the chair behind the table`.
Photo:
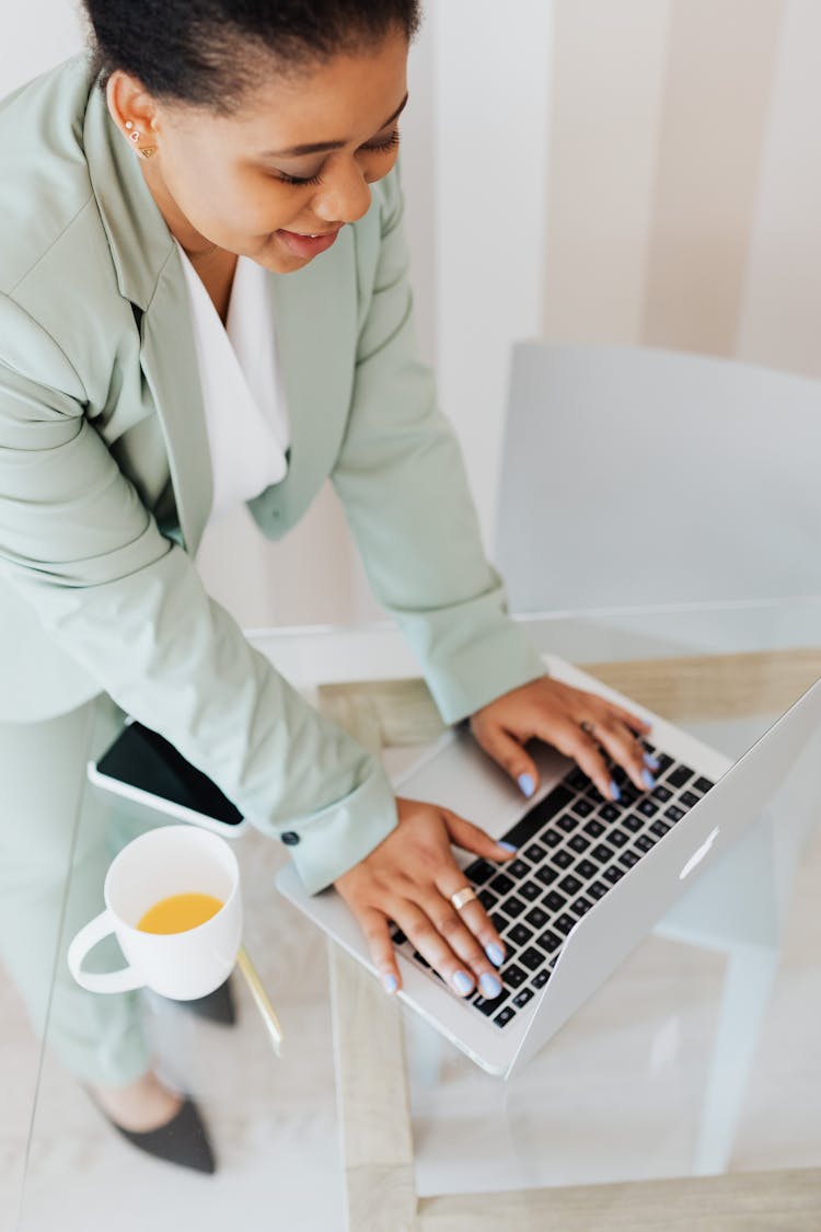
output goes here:
[{"label": "smooth white backrest of the chair behind the table", "polygon": [[521,612],[821,594],[821,382],[517,345],[495,559]]}]

